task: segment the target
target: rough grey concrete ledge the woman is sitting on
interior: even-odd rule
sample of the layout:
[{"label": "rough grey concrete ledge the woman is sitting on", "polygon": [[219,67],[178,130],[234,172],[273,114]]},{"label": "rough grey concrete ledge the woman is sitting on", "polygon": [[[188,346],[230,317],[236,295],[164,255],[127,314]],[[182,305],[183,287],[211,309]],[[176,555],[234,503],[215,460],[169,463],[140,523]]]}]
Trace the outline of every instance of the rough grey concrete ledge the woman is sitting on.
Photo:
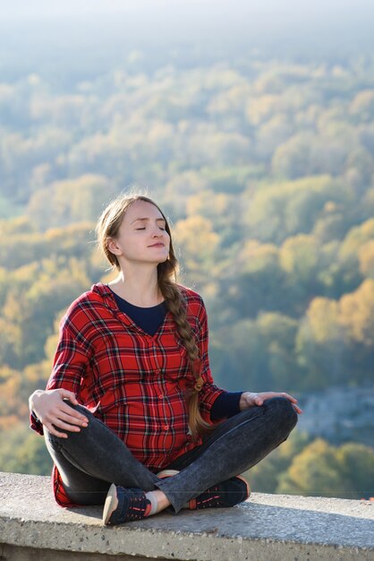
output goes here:
[{"label": "rough grey concrete ledge the woman is sitting on", "polygon": [[374,559],[369,501],[254,493],[231,509],[105,527],[99,507],[55,505],[47,477],[0,473],[0,499],[3,561]]}]

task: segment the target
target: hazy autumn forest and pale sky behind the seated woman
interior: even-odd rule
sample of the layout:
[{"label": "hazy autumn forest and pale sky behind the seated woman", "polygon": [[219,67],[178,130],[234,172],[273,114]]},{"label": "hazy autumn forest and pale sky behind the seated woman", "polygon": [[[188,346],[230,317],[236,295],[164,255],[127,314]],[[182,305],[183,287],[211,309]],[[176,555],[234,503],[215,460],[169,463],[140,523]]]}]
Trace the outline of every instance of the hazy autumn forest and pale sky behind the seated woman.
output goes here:
[{"label": "hazy autumn forest and pale sky behind the seated woman", "polygon": [[0,470],[51,470],[28,397],[110,278],[98,214],[136,186],[205,300],[217,384],[305,409],[251,487],[373,496],[370,4],[22,4],[0,16]]}]

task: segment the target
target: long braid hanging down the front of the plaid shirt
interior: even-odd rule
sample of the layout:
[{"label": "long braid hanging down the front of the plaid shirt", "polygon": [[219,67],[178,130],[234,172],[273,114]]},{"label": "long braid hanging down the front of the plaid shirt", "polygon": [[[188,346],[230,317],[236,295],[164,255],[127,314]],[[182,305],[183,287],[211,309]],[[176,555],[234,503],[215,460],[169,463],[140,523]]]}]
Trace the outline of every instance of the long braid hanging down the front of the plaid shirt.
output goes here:
[{"label": "long braid hanging down the front of the plaid shirt", "polygon": [[158,279],[159,287],[165,298],[167,309],[173,315],[176,329],[183,341],[185,350],[187,350],[192,373],[196,379],[196,384],[194,384],[193,389],[190,390],[187,397],[191,433],[192,436],[196,437],[211,428],[210,425],[202,419],[199,410],[198,398],[203,384],[203,380],[200,376],[199,348],[194,340],[191,325],[187,321],[186,306],[184,305],[181,291],[174,282],[165,279],[165,277],[163,279],[162,276],[163,275],[161,275],[161,279]]}]

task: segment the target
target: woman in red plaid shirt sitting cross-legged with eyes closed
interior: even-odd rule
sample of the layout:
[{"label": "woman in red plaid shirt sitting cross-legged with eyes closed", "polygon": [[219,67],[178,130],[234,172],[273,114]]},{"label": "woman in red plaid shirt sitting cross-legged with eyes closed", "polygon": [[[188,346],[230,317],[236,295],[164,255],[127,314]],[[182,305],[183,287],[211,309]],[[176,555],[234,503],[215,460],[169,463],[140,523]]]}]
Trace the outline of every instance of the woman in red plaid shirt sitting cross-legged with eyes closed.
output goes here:
[{"label": "woman in red plaid shirt sitting cross-legged with eyes closed", "polygon": [[205,307],[175,282],[156,203],[118,197],[97,235],[118,276],[69,307],[47,389],[30,396],[57,503],[104,504],[106,524],[240,503],[249,487],[238,474],[287,438],[296,400],[213,384]]}]

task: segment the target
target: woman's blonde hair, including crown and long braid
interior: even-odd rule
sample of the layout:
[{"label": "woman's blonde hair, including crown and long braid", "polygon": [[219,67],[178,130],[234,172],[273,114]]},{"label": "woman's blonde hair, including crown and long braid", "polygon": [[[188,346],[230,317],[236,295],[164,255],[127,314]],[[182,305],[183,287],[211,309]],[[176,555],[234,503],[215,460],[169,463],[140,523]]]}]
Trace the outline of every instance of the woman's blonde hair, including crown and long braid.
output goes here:
[{"label": "woman's blonde hair, including crown and long braid", "polygon": [[157,210],[162,214],[166,222],[166,232],[170,236],[169,255],[163,263],[157,265],[157,280],[158,287],[165,298],[168,311],[173,316],[174,322],[179,336],[183,341],[183,346],[187,351],[190,360],[192,374],[195,377],[195,384],[186,393],[186,400],[189,407],[189,425],[193,437],[206,432],[211,426],[201,417],[199,410],[199,392],[203,385],[203,380],[200,375],[200,357],[199,348],[194,340],[191,325],[187,320],[187,306],[183,298],[181,289],[176,284],[178,261],[174,254],[174,247],[172,235],[166,216],[158,205],[149,199],[149,197],[142,194],[120,195],[114,201],[109,203],[106,209],[102,212],[98,219],[96,228],[98,246],[106,255],[106,259],[118,271],[121,270],[120,263],[116,255],[112,254],[108,249],[108,242],[110,238],[118,235],[118,230],[121,226],[123,215],[129,206],[136,201],[144,201],[156,206]]}]

